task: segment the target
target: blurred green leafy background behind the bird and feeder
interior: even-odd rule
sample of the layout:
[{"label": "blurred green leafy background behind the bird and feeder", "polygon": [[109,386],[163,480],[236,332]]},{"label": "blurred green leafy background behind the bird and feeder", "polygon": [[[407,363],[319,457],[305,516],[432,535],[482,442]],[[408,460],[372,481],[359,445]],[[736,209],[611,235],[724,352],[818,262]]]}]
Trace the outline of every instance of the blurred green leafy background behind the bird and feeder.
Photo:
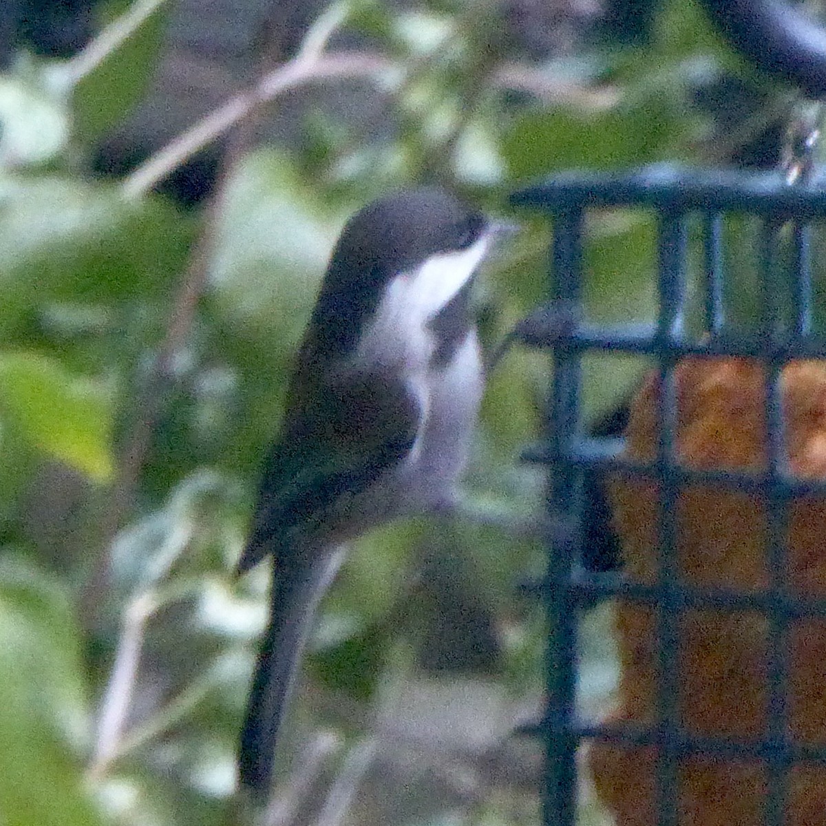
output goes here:
[{"label": "blurred green leafy background behind the bird and feeder", "polygon": [[[501,214],[571,167],[771,165],[791,96],[685,0],[15,0],[0,15],[0,823],[245,822],[234,751],[266,572],[231,572],[346,216],[434,179]],[[330,41],[310,54],[319,17],[309,31]],[[301,48],[305,82],[204,131]],[[330,55],[338,74],[320,69]],[[161,154],[193,126],[194,157]],[[518,217],[479,285],[488,347],[548,293],[550,228]],[[650,220],[601,213],[588,236],[589,316],[651,318]],[[643,367],[589,358],[588,420]],[[544,565],[544,481],[518,457],[547,387],[543,354],[511,352],[463,515],[354,547],[270,822],[539,822],[541,745],[512,732],[541,709],[541,610],[519,586]],[[599,714],[605,606],[581,649],[582,710]],[[583,822],[607,822],[586,781],[582,800]]]}]

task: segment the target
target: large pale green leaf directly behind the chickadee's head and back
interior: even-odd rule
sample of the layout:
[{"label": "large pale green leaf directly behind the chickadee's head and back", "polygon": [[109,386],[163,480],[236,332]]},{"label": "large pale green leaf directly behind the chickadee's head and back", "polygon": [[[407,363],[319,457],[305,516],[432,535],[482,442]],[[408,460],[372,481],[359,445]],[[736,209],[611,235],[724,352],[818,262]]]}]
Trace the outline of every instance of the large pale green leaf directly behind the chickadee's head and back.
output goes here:
[{"label": "large pale green leaf directly behind the chickadee's head and back", "polygon": [[330,200],[276,150],[244,158],[225,192],[205,303],[214,346],[237,371],[244,399],[225,450],[247,473],[278,425],[289,366],[352,211],[352,203]]}]

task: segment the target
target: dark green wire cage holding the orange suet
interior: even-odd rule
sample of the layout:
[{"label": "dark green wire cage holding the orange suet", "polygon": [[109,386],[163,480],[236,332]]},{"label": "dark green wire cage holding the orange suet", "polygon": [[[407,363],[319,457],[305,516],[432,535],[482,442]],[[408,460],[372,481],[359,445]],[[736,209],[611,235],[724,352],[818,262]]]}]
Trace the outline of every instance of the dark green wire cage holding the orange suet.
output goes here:
[{"label": "dark green wire cage holding the orange suet", "polygon": [[[749,826],[752,822],[809,826],[805,815],[795,819],[797,815],[790,810],[790,776],[800,766],[826,767],[826,736],[821,742],[817,736],[798,736],[796,729],[792,731],[790,634],[804,620],[826,617],[826,591],[820,594],[790,586],[786,546],[790,503],[800,497],[826,496],[826,478],[798,477],[790,469],[783,371],[794,359],[826,357],[826,339],[818,328],[812,252],[817,222],[826,217],[822,183],[815,176],[805,186],[790,187],[781,173],[658,166],[618,175],[567,173],[513,197],[515,204],[542,211],[552,221],[550,292],[554,301],[565,306],[583,303],[588,277],[587,225],[592,212],[642,208],[653,213],[657,225],[657,318],[650,324],[606,327],[591,323],[583,311],[577,325],[548,342],[553,346],[553,380],[547,434],[542,444],[526,453],[530,461],[548,465],[549,524],[557,526],[542,585],[549,629],[548,706],[538,733],[546,744],[544,824],[548,826],[579,822],[577,795],[586,771],[582,748],[596,742],[614,743],[620,748],[615,753],[625,754],[628,765],[619,771],[626,772],[632,786],[638,780],[635,775],[644,773],[644,761],[635,764],[634,756],[653,755],[653,803],[647,821],[652,826],[726,822],[714,819],[714,814],[697,814],[702,806],[691,809],[691,801],[686,802],[692,792],[692,767],[699,765],[691,761],[698,756],[710,761],[703,765],[712,767],[714,761],[757,767],[757,781],[751,786],[738,780],[735,772],[734,779],[729,778],[733,788],[724,790],[733,795],[757,790],[757,819],[749,820]],[[746,243],[738,232],[743,227],[738,223],[742,216],[756,222],[757,244]],[[699,261],[691,261],[692,239],[699,240]],[[753,255],[757,262],[753,282],[745,287],[733,284],[737,280],[733,262],[743,254]],[[738,317],[738,305],[743,302],[751,309]],[[653,362],[658,378],[657,444],[650,460],[628,458],[624,452],[627,439],[587,432],[582,362],[594,352],[641,354]],[[765,452],[759,467],[714,462],[697,467],[682,461],[681,415],[685,414],[680,407],[679,371],[692,357],[757,359],[762,365]],[[601,572],[583,563],[588,558],[583,542],[591,527],[584,524],[588,518],[584,482],[594,474],[653,484],[657,498],[653,577]],[[767,576],[759,586],[738,587],[737,577],[733,584],[704,584],[681,569],[680,532],[685,529],[681,496],[691,485],[757,497],[762,503],[765,530],[757,524],[751,528],[756,534],[762,532],[759,543]],[[609,597],[643,606],[641,610],[650,610],[655,618],[653,714],[646,719],[583,719],[577,713],[577,629],[583,612]],[[762,636],[755,631],[757,647],[764,654],[760,679],[765,685],[760,691],[765,692],[766,702],[765,713],[758,715],[761,730],[753,736],[686,723],[686,708],[694,701],[685,650],[690,644],[686,642],[686,612],[692,611],[695,616],[704,616],[703,612],[736,616],[741,623],[738,628],[765,631]],[[826,633],[826,626],[813,627],[815,632]],[[744,678],[730,672],[721,679],[737,682]],[[728,690],[727,686],[721,690]],[[699,794],[693,792],[695,797]],[[643,822],[614,814],[619,826]],[[826,823],[826,808],[819,817],[818,823]]]}]

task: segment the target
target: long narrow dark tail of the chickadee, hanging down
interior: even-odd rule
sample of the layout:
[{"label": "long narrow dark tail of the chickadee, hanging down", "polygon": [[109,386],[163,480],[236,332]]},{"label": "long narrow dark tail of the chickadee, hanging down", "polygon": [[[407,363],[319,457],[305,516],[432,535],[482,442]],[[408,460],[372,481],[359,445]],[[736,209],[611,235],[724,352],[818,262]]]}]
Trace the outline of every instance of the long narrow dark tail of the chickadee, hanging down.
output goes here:
[{"label": "long narrow dark tail of the chickadee, hanging down", "polygon": [[268,793],[278,731],[313,615],[343,555],[343,548],[313,548],[273,563],[270,618],[255,663],[238,757],[241,785],[256,797]]}]

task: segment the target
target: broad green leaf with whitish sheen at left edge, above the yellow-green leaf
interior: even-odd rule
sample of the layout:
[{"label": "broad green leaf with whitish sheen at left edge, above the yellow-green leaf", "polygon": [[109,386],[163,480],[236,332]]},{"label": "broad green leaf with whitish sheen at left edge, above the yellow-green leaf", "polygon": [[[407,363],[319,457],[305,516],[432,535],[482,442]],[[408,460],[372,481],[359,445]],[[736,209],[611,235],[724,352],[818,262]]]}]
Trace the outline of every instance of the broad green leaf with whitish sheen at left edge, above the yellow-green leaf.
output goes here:
[{"label": "broad green leaf with whitish sheen at left edge, above the yellow-green leaf", "polygon": [[162,199],[110,184],[0,178],[0,331],[44,301],[107,303],[169,291],[191,224]]}]

